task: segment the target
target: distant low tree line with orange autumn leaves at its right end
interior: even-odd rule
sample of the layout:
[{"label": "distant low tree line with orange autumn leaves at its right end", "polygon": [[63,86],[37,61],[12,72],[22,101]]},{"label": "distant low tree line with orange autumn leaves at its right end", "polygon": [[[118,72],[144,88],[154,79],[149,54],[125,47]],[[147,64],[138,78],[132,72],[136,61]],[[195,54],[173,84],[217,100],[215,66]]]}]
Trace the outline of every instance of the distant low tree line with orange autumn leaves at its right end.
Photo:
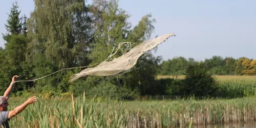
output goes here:
[{"label": "distant low tree line with orange autumn leaves at its right end", "polygon": [[175,57],[160,63],[159,75],[184,75],[190,65],[204,65],[212,75],[256,75],[256,60],[246,57],[212,56],[204,61],[194,58]]}]

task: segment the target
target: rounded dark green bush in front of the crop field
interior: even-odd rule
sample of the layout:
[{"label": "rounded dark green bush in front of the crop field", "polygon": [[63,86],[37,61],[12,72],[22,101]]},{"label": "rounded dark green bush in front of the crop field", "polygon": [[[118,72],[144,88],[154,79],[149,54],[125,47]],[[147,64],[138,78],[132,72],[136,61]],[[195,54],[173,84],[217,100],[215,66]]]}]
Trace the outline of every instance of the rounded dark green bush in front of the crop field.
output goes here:
[{"label": "rounded dark green bush in front of the crop field", "polygon": [[216,81],[201,64],[189,65],[185,72],[184,79],[159,79],[162,86],[165,86],[168,96],[189,97],[215,97],[217,89]]}]

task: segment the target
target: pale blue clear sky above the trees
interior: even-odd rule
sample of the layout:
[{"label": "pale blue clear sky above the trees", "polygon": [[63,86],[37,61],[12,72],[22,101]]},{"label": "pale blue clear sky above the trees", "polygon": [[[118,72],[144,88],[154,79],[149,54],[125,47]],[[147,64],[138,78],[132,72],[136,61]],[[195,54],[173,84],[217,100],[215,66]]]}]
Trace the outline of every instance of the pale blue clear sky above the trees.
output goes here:
[{"label": "pale blue clear sky above the trees", "polygon": [[[29,17],[33,0],[16,0],[21,14]],[[90,3],[90,0],[88,0]],[[11,1],[0,1],[0,33],[12,7]],[[142,16],[151,13],[156,19],[152,38],[167,33],[168,38],[158,46],[155,56],[163,60],[174,57],[194,58],[197,61],[222,57],[256,59],[256,1],[173,1],[119,0],[119,7],[131,15],[129,22],[137,25]],[[2,34],[0,46],[4,47]]]}]

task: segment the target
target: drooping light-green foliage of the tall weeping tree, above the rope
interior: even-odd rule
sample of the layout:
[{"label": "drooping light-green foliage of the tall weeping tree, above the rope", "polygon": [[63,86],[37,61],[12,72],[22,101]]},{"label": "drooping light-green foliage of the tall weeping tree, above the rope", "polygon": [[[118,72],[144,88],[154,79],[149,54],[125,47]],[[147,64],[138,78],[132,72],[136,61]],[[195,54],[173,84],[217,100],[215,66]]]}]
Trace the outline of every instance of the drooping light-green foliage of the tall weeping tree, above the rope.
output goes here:
[{"label": "drooping light-green foliage of the tall weeping tree, above the rope", "polygon": [[[33,41],[28,45],[27,60],[30,62],[36,59],[35,53],[39,52],[59,69],[76,66],[77,61],[83,62],[77,60],[77,57],[87,49],[88,33],[79,33],[77,30],[77,27],[82,27],[77,21],[82,19],[76,17],[76,14],[84,11],[87,11],[84,9],[84,1],[35,1],[35,10],[28,19],[28,37]],[[90,28],[87,30],[90,31]],[[82,34],[86,37],[78,38],[81,40],[77,41],[75,37]]]}]

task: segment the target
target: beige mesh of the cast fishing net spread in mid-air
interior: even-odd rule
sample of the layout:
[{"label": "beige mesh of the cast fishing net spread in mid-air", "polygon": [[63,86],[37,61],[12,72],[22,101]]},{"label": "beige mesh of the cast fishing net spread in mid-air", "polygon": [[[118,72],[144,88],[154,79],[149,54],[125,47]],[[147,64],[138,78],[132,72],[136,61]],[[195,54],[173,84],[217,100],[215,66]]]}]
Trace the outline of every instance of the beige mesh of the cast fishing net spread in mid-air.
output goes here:
[{"label": "beige mesh of the cast fishing net spread in mid-air", "polygon": [[164,42],[170,36],[175,36],[175,34],[169,33],[151,40],[144,41],[141,44],[135,46],[131,51],[124,53],[123,55],[113,59],[112,61],[105,60],[101,62],[97,67],[87,68],[82,70],[80,73],[74,74],[73,76],[71,76],[70,81],[74,81],[80,77],[85,77],[88,75],[110,76],[123,71],[127,71],[136,64],[138,58],[143,53],[154,49],[156,46]]}]

